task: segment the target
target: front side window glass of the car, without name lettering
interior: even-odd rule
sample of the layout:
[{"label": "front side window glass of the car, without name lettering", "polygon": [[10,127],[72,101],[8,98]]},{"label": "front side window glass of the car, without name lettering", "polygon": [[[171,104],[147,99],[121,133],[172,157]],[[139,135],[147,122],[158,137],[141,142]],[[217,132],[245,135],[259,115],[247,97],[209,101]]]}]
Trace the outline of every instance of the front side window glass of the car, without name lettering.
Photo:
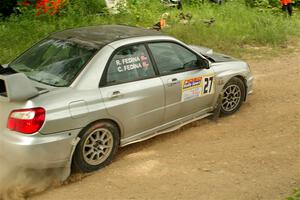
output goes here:
[{"label": "front side window glass of the car, without name lettering", "polygon": [[159,42],[149,48],[162,75],[197,69],[197,55],[179,44]]}]

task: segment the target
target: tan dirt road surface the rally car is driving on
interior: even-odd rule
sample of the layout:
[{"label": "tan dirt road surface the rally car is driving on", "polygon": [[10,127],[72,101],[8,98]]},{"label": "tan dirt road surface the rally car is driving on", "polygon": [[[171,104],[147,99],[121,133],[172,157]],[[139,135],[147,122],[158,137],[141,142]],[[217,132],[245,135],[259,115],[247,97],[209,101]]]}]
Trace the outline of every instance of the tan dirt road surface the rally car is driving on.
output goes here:
[{"label": "tan dirt road surface the rally car is driving on", "polygon": [[300,186],[300,52],[249,63],[254,93],[238,113],[120,149],[30,199],[284,199]]}]

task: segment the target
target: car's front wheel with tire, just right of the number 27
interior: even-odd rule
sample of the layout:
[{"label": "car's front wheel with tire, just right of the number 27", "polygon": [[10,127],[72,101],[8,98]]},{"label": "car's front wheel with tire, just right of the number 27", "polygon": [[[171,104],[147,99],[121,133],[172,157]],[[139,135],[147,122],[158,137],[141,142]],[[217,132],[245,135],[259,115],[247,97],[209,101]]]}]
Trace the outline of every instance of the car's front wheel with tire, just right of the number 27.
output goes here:
[{"label": "car's front wheel with tire, just right of the number 27", "polygon": [[221,115],[231,115],[242,105],[245,97],[245,84],[237,77],[230,79],[223,88]]}]

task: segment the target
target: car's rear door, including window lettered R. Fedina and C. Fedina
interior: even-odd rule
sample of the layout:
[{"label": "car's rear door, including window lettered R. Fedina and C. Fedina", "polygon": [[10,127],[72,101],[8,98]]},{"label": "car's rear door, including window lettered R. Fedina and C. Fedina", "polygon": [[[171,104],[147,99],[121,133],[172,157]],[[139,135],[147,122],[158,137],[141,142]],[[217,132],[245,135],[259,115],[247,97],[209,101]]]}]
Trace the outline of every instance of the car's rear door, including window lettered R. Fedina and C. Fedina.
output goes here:
[{"label": "car's rear door, including window lettered R. Fedina and C. Fedina", "polygon": [[165,95],[144,44],[115,51],[100,88],[108,113],[119,121],[125,137],[163,123]]}]

